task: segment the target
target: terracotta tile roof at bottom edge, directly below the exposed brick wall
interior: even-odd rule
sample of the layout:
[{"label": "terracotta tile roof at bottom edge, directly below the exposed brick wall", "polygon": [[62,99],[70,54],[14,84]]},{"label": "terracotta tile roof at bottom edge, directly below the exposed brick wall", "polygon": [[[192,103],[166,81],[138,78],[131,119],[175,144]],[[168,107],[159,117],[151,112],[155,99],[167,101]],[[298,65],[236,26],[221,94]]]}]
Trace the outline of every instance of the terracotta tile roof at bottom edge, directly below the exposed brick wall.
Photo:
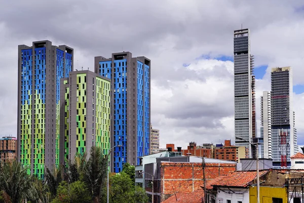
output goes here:
[{"label": "terracotta tile roof at bottom edge, directly below the exposed brick wall", "polygon": [[[202,199],[204,199],[204,190],[195,190],[191,193],[180,193],[177,192],[175,195],[171,195],[168,199],[162,201],[162,203],[202,203]],[[177,201],[176,201],[177,198]]]}]

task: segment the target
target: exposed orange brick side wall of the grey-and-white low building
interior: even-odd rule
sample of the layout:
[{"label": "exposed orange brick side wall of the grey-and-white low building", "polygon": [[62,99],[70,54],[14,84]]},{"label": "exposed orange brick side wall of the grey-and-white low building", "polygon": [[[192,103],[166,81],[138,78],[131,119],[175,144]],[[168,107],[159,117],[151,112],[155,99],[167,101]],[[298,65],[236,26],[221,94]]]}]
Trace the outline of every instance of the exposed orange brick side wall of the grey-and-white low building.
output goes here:
[{"label": "exposed orange brick side wall of the grey-and-white low building", "polygon": [[[226,175],[236,170],[236,164],[206,163],[205,176],[212,180],[219,175]],[[160,193],[162,201],[171,194],[189,193],[201,189],[204,185],[202,163],[162,162]]]}]

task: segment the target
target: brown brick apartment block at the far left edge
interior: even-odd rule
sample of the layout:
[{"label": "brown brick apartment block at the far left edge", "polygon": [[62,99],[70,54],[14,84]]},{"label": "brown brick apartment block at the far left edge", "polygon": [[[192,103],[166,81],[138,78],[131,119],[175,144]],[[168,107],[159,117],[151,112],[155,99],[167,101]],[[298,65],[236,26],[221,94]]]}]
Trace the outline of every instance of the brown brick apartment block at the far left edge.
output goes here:
[{"label": "brown brick apartment block at the far left edge", "polygon": [[15,137],[0,138],[1,162],[9,162],[16,159],[17,139]]}]

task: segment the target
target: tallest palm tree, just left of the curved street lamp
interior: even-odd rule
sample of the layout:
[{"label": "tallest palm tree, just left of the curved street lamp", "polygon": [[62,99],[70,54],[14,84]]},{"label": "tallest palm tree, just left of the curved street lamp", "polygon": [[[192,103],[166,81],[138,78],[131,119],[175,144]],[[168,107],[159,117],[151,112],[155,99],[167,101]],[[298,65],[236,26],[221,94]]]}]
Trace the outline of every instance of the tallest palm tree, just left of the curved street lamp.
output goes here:
[{"label": "tallest palm tree, just left of the curved street lamp", "polygon": [[84,166],[84,181],[91,189],[94,202],[101,201],[101,189],[106,184],[107,156],[104,156],[101,148],[93,146],[89,160]]}]

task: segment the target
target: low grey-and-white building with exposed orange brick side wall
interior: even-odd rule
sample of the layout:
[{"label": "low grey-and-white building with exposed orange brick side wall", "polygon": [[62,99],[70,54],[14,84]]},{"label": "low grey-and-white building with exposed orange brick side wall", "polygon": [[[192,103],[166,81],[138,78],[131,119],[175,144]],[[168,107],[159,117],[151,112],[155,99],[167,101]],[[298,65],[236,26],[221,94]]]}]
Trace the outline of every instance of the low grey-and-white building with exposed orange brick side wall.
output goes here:
[{"label": "low grey-and-white building with exposed orange brick side wall", "polygon": [[[154,203],[159,203],[174,192],[190,194],[200,190],[203,184],[203,159],[197,156],[183,156],[168,151],[140,157],[140,165],[135,166],[136,185],[142,185],[149,200],[154,194]],[[205,176],[212,180],[237,169],[237,162],[204,158]]]}]

